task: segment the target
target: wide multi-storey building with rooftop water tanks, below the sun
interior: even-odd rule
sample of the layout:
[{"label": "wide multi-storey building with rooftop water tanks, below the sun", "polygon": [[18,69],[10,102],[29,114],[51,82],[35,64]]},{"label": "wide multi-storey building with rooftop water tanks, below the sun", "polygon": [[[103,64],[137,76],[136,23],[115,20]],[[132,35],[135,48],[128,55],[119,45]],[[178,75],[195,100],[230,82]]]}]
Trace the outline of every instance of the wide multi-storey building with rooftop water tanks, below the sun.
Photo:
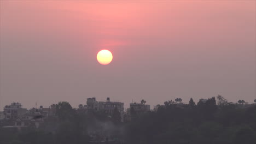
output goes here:
[{"label": "wide multi-storey building with rooftop water tanks, below the sun", "polygon": [[115,107],[117,107],[121,114],[124,113],[124,103],[110,101],[110,98],[107,98],[106,101],[96,101],[96,98],[88,98],[86,104],[85,107],[88,111],[101,111],[112,115]]}]

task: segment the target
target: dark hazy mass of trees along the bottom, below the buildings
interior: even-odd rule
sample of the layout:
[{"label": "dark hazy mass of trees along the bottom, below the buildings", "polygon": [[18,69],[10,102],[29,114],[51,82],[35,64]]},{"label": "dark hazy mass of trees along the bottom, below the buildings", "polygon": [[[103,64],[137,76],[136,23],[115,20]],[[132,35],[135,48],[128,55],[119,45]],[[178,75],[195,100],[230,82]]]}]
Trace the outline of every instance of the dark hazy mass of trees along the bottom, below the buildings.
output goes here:
[{"label": "dark hazy mass of trees along the bottom, below the buildings", "polygon": [[189,104],[181,102],[168,100],[146,113],[131,109],[131,121],[121,122],[117,109],[110,116],[89,113],[64,101],[56,104],[56,116],[45,119],[38,129],[0,128],[0,143],[256,143],[255,104],[229,103],[221,95],[197,103],[192,98]]}]

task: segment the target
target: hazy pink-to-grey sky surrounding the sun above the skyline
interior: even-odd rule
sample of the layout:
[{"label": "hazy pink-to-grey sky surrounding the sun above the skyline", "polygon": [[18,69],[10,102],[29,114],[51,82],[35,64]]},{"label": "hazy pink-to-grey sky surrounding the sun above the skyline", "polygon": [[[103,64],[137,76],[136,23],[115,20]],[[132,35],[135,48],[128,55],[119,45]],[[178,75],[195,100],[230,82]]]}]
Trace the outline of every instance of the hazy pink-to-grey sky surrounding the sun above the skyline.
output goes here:
[{"label": "hazy pink-to-grey sky surrounding the sun above the skyline", "polygon": [[[256,1],[0,1],[0,110],[256,96]],[[113,54],[108,65],[98,51]]]}]

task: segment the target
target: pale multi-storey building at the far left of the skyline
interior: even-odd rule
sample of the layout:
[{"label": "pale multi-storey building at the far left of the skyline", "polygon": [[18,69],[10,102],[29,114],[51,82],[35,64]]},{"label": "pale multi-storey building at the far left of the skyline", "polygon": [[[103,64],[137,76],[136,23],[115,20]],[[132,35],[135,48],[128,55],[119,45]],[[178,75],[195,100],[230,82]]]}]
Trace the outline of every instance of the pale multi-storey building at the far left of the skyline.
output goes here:
[{"label": "pale multi-storey building at the far left of the skyline", "polygon": [[11,103],[4,107],[4,119],[16,119],[25,113],[27,113],[27,109],[22,108],[20,103]]}]

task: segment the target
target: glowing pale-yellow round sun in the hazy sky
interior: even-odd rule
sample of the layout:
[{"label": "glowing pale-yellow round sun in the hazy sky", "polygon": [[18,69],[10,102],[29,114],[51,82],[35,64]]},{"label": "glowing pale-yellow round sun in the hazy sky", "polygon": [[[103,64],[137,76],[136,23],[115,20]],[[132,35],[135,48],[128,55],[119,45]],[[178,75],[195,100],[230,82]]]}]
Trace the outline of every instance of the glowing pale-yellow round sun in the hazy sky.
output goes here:
[{"label": "glowing pale-yellow round sun in the hazy sky", "polygon": [[100,64],[107,65],[112,62],[113,55],[109,50],[101,50],[97,54],[97,60]]}]

